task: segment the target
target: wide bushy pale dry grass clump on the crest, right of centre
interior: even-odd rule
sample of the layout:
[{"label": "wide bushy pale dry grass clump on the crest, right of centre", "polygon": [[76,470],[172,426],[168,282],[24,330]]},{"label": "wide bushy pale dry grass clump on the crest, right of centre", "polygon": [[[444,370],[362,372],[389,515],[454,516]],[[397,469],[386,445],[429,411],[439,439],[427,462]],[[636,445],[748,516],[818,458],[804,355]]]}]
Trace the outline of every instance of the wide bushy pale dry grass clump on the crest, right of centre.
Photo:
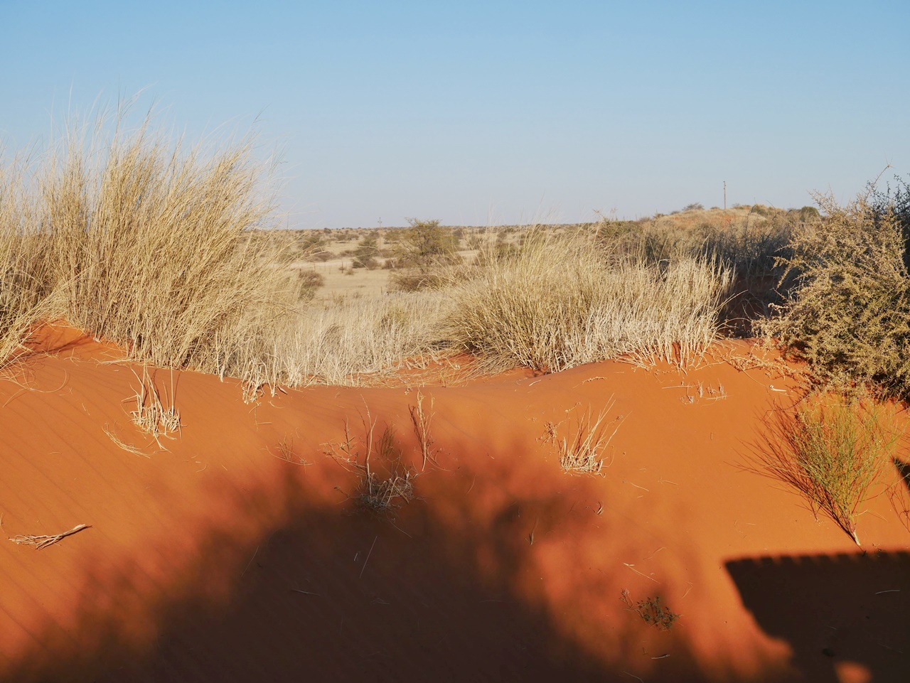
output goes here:
[{"label": "wide bushy pale dry grass clump on the crest, right of centre", "polygon": [[685,365],[717,336],[730,275],[695,258],[611,260],[591,242],[533,233],[517,255],[451,288],[447,336],[490,371],[622,356]]}]

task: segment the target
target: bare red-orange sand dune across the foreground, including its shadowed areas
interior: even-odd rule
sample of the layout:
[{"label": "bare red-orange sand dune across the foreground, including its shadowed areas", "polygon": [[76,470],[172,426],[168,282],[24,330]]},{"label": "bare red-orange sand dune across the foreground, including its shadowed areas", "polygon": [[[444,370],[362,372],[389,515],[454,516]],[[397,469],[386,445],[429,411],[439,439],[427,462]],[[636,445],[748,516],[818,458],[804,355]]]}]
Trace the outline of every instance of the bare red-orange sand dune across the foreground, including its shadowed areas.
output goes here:
[{"label": "bare red-orange sand dune across the foreground, including its shadowed areas", "polygon": [[[423,388],[440,452],[420,471],[416,389],[247,405],[174,373],[184,427],[160,450],[130,421],[136,368],[45,333],[54,353],[0,382],[2,530],[90,528],[42,550],[0,537],[5,681],[908,679],[910,533],[888,498],[861,550],[742,467],[798,399],[780,373],[606,362]],[[170,396],[171,373],[156,382]],[[611,397],[609,467],[564,474],[547,423],[565,434]],[[393,513],[358,509],[357,474],[323,452],[368,407],[419,470]],[[624,590],[681,617],[649,626]]]}]

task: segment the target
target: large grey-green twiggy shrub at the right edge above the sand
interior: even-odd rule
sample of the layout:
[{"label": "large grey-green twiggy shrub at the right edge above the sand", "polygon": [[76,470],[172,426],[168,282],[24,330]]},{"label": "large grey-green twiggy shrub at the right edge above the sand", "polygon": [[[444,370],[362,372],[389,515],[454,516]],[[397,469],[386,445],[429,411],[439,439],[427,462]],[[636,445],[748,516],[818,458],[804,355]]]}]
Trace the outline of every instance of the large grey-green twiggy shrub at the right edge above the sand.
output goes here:
[{"label": "large grey-green twiggy shrub at the right edge above the sand", "polygon": [[794,226],[784,256],[784,303],[761,322],[815,379],[842,389],[874,383],[888,395],[910,389],[910,290],[904,239],[894,212],[865,197]]}]

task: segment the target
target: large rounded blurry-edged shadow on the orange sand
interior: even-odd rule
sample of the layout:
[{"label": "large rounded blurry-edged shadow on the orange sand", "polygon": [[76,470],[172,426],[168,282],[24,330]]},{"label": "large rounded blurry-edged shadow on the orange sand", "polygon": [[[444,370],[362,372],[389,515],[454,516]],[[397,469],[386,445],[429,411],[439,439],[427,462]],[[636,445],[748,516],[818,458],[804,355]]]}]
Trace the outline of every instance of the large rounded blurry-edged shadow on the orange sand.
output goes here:
[{"label": "large rounded blurry-edged shadow on the orange sand", "polygon": [[[200,512],[145,539],[143,557],[167,567],[156,577],[135,554],[86,557],[69,582],[75,620],[33,628],[31,647],[5,653],[0,678],[718,679],[691,654],[683,624],[657,634],[622,608],[602,611],[619,605],[619,588],[633,578],[616,575],[616,557],[642,547],[622,522],[582,512],[576,501],[597,499],[592,480],[541,476],[544,466],[521,458],[490,460],[483,471],[462,463],[457,474],[421,474],[418,498],[377,515],[326,493],[339,471],[328,459],[305,470],[268,458],[263,467],[274,476],[259,483],[200,485],[198,509],[227,514]],[[238,533],[235,520],[253,533]],[[178,546],[175,534],[192,542]],[[589,567],[591,548],[604,545],[620,568]],[[561,573],[543,557],[558,558]],[[749,606],[765,599],[750,591],[766,588],[750,567],[728,567]],[[543,589],[554,580],[558,599]],[[763,626],[771,619],[769,632],[787,627],[756,615]],[[645,656],[643,642],[673,655]]]}]

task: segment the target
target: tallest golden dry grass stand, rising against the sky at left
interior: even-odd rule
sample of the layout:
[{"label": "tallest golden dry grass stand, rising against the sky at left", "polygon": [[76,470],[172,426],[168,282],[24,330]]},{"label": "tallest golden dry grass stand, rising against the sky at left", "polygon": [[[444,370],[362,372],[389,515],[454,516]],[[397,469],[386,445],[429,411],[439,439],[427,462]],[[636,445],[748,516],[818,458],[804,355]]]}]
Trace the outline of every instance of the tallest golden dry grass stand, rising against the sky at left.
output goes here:
[{"label": "tallest golden dry grass stand, rising against the sky at left", "polygon": [[271,247],[248,238],[274,209],[253,138],[171,144],[150,124],[100,116],[4,168],[3,296],[15,306],[0,354],[35,318],[59,317],[148,363],[243,376],[250,336],[295,302]]}]

